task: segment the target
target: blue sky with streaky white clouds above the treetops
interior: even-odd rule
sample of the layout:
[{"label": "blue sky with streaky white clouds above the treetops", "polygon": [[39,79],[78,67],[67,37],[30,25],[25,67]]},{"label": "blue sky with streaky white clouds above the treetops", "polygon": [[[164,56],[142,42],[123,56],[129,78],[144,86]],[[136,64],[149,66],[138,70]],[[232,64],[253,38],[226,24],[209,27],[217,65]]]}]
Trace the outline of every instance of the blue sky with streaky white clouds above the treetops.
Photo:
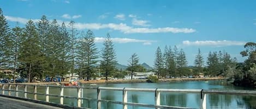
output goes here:
[{"label": "blue sky with streaky white clouds above the treetops", "polygon": [[68,1],[0,0],[10,27],[27,20],[76,22],[79,31],[93,30],[97,47],[110,33],[117,60],[127,65],[136,53],[140,63],[153,66],[159,46],[183,49],[193,65],[198,48],[206,59],[210,51],[225,50],[242,62],[246,42],[256,42],[256,1]]}]

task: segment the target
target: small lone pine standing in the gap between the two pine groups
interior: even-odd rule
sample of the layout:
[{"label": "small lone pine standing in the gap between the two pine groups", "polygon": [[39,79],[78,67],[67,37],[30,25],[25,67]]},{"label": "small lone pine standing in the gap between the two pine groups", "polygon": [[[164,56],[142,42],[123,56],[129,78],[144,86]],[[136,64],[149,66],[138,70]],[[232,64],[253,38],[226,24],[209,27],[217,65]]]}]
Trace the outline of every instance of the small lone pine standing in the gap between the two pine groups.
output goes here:
[{"label": "small lone pine standing in the gap between the two pine groups", "polygon": [[139,63],[139,57],[136,53],[132,54],[130,59],[128,60],[128,68],[127,70],[130,71],[130,77],[133,79],[133,72],[135,72],[138,68],[138,63]]}]

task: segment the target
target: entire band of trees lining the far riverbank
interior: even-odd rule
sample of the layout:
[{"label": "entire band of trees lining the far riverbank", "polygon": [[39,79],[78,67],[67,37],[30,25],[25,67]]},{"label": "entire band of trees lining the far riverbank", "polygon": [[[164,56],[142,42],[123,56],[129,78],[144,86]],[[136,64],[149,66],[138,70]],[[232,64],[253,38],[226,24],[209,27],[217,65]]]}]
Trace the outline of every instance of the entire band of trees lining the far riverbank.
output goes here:
[{"label": "entire band of trees lining the far riverbank", "polygon": [[[75,22],[59,23],[47,20],[43,15],[37,22],[29,20],[25,27],[16,24],[9,28],[8,22],[0,9],[0,69],[10,69],[22,78],[33,78],[43,81],[46,75],[79,74],[81,79],[89,80],[100,73],[105,80],[109,76],[123,78],[134,72],[153,71],[158,78],[204,75],[225,76],[234,79],[235,85],[254,86],[256,75],[256,44],[248,42],[242,56],[245,62],[237,63],[227,52],[210,52],[204,62],[200,49],[195,57],[194,66],[188,66],[183,49],[178,50],[165,46],[164,52],[157,48],[153,69],[145,69],[139,65],[139,56],[130,57],[127,69],[117,69],[114,43],[110,34],[106,35],[100,50],[94,43],[92,30],[78,31]],[[1,73],[0,78],[6,77]]]}]

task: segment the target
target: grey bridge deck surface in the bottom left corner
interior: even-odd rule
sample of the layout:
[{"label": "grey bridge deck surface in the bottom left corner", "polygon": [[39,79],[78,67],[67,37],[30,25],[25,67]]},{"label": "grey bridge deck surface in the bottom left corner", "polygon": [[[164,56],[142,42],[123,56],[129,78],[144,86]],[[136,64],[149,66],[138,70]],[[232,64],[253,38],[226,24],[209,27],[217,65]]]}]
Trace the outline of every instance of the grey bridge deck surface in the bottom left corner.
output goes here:
[{"label": "grey bridge deck surface in the bottom left corner", "polygon": [[23,100],[17,100],[13,98],[0,97],[0,108],[3,109],[61,109],[59,107],[37,104],[34,102],[28,102]]}]

